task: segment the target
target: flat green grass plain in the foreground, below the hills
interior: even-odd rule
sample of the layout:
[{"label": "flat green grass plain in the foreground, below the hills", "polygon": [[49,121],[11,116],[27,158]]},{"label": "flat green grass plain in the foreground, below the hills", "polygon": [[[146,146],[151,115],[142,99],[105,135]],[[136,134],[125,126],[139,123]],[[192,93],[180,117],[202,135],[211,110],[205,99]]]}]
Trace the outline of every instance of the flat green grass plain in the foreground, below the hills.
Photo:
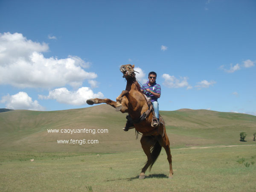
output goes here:
[{"label": "flat green grass plain in the foreground, below the hills", "polygon": [[[2,152],[3,153],[3,152]],[[5,152],[0,191],[256,191],[256,165],[239,164],[256,155],[255,146],[172,150],[174,178],[164,151],[139,180],[145,154],[51,154]],[[23,160],[17,156],[21,155]],[[35,158],[30,162],[27,157]]]}]

